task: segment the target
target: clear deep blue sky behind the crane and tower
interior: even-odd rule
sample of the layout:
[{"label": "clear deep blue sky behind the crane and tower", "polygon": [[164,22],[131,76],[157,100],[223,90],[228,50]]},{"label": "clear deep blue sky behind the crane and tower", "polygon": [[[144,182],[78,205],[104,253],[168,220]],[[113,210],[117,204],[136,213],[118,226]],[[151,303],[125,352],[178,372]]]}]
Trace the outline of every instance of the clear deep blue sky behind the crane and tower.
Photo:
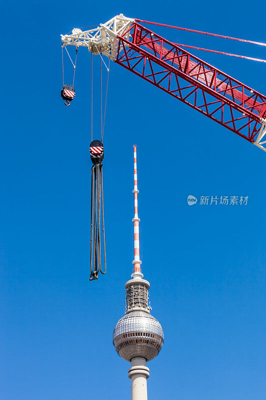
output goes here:
[{"label": "clear deep blue sky behind the crane and tower", "polygon": [[[129,363],[116,354],[112,331],[124,313],[124,282],[132,271],[137,144],[142,269],[165,333],[160,355],[148,365],[149,398],[265,400],[266,153],[112,63],[104,134],[108,270],[89,282],[85,48],[75,99],[65,107],[60,97],[60,34],[73,27],[122,12],[266,41],[264,8],[263,1],[238,0],[1,2],[2,399],[130,397]],[[266,58],[265,47],[154,30],[173,41]],[[266,92],[265,64],[193,52]],[[94,101],[96,138],[98,90]],[[188,206],[189,194],[249,200]]]}]

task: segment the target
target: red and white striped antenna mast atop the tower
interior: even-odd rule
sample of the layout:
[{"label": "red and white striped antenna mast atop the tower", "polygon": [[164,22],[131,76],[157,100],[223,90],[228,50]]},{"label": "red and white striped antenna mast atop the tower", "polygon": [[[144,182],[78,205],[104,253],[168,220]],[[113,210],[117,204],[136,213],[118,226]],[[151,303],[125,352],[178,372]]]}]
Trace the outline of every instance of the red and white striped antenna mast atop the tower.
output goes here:
[{"label": "red and white striped antenna mast atop the tower", "polygon": [[138,175],[137,175],[137,146],[134,145],[134,270],[133,272],[141,273],[141,260],[139,258],[139,216],[138,216]]}]

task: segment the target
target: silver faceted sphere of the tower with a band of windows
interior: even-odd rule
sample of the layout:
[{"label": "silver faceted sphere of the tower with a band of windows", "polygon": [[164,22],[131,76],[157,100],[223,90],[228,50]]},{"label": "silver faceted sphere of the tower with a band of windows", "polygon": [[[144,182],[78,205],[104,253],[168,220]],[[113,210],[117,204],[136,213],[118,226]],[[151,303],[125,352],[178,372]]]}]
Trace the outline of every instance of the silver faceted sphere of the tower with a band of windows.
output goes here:
[{"label": "silver faceted sphere of the tower with a band of windows", "polygon": [[145,311],[131,311],[117,322],[113,345],[120,357],[130,361],[144,357],[150,361],[162,348],[164,333],[159,321]]}]

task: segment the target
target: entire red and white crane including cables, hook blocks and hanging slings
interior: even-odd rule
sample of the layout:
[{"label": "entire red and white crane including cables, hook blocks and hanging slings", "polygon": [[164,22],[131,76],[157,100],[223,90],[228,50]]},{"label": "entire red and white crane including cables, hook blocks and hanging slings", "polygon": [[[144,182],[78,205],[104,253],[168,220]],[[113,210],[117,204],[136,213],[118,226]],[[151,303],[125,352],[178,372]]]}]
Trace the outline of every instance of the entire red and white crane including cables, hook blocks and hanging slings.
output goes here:
[{"label": "entire red and white crane including cables, hook blocks and hanging slings", "polygon": [[[88,30],[74,28],[71,34],[61,35],[62,63],[63,48],[65,47],[66,49],[68,45],[76,47],[75,63],[66,49],[73,64],[74,72],[72,84],[64,85],[63,75],[61,96],[66,100],[65,105],[70,105],[70,101],[75,96],[73,85],[78,47],[87,47],[91,53],[91,95],[93,82],[92,57],[93,54],[101,57],[101,140],[92,140],[93,99],[91,98],[92,141],[90,143],[90,156],[93,166],[91,170],[90,280],[98,279],[99,272],[103,274],[106,272],[102,160],[110,60],[266,151],[266,96],[183,48],[199,47],[171,42],[143,26],[140,22],[212,34],[128,18],[123,14],[119,14],[105,23],[100,23],[96,28]],[[218,34],[212,35],[266,45],[266,43],[235,37]],[[221,53],[221,51],[199,49]],[[266,62],[266,60],[245,57],[243,55],[223,54]],[[108,67],[104,62],[103,55],[109,58]],[[102,62],[108,71],[104,118],[102,118]],[[102,234],[100,233],[101,226]],[[101,267],[102,240],[104,247],[104,269]]]}]

